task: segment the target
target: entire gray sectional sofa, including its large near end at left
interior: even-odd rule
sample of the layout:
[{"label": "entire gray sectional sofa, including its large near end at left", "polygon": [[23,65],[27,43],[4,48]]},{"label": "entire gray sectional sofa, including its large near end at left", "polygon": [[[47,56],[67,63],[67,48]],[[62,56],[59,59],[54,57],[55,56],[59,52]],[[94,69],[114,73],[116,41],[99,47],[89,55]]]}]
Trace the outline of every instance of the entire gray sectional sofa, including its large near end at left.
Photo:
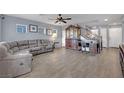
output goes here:
[{"label": "entire gray sectional sofa, including its large near end at left", "polygon": [[32,55],[54,50],[54,43],[46,40],[0,42],[0,77],[16,77],[31,71]]}]

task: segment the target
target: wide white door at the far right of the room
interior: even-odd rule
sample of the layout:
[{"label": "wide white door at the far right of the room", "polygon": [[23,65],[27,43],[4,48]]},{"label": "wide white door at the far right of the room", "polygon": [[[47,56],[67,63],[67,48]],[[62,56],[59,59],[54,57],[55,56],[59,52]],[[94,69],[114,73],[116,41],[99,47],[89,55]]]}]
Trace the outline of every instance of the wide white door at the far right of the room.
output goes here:
[{"label": "wide white door at the far right of the room", "polygon": [[122,28],[109,28],[109,47],[118,47],[122,43]]}]

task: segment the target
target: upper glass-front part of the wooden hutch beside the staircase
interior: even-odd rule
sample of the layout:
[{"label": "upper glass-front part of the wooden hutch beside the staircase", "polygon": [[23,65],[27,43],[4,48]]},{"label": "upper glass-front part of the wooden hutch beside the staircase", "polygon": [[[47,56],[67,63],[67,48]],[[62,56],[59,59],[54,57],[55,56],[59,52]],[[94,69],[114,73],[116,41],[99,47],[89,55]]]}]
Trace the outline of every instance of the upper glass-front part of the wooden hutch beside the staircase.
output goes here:
[{"label": "upper glass-front part of the wooden hutch beside the staircase", "polygon": [[66,39],[79,39],[81,35],[80,26],[70,25],[66,28]]}]

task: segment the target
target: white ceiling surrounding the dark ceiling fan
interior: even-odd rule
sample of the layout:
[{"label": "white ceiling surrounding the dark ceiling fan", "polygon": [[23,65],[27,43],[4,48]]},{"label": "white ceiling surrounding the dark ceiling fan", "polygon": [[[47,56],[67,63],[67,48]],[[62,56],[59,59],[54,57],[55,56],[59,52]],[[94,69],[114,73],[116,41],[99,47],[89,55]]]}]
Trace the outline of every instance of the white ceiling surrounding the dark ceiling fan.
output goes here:
[{"label": "white ceiling surrounding the dark ceiling fan", "polygon": [[[57,14],[7,14],[9,16],[25,18],[29,20],[34,20],[38,22],[44,22],[53,25],[69,25],[69,24],[84,24],[84,25],[106,25],[106,24],[116,24],[121,23],[123,14],[62,14],[63,17],[71,17],[71,21],[67,21],[67,24],[55,24],[54,19]],[[105,22],[104,19],[108,19]]]}]

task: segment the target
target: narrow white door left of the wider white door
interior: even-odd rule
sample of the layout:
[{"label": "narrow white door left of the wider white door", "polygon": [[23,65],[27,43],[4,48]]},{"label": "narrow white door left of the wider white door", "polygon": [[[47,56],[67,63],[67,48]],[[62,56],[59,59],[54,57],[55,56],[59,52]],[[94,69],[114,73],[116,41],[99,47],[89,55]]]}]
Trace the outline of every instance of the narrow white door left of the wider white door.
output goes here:
[{"label": "narrow white door left of the wider white door", "polygon": [[107,47],[107,29],[101,28],[100,29],[100,35],[102,36],[103,47]]}]

